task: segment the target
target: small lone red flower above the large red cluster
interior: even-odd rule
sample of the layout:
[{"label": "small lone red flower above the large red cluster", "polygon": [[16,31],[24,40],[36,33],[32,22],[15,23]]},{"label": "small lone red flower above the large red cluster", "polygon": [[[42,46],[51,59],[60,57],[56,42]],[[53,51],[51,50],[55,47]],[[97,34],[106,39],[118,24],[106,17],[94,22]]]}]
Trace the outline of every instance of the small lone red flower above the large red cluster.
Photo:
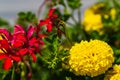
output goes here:
[{"label": "small lone red flower above the large red cluster", "polygon": [[57,18],[57,15],[53,14],[55,10],[56,9],[50,9],[50,11],[48,13],[48,18],[46,18],[45,20],[40,20],[39,26],[47,25],[46,26],[47,27],[47,32],[52,31],[53,23]]}]

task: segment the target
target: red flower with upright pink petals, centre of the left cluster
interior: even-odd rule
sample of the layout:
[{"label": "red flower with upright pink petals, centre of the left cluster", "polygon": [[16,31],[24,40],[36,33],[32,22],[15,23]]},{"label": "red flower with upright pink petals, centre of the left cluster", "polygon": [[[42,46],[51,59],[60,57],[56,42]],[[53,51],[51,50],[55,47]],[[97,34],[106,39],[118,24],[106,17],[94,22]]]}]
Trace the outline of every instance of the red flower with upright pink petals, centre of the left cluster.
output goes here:
[{"label": "red flower with upright pink petals, centre of the left cluster", "polygon": [[[34,28],[30,26],[27,31],[25,31],[20,25],[15,26],[14,31],[14,43],[13,44],[21,44],[21,49],[19,50],[19,55],[30,54],[33,58],[33,61],[36,61],[36,56],[34,54],[35,47],[38,48],[39,44],[35,37],[32,38],[34,32]],[[33,40],[34,39],[34,40]],[[32,49],[34,47],[34,49]],[[25,51],[25,52],[23,52]]]}]

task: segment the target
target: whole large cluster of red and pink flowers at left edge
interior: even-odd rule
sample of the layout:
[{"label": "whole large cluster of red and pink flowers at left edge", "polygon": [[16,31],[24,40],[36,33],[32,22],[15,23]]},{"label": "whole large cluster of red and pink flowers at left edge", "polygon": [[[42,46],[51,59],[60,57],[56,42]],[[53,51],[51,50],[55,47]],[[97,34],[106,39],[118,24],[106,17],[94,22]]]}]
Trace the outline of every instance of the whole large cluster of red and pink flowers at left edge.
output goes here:
[{"label": "whole large cluster of red and pink flowers at left edge", "polygon": [[16,25],[13,34],[6,29],[0,29],[0,60],[4,59],[4,70],[10,69],[13,62],[23,60],[27,54],[32,56],[33,62],[36,61],[35,53],[39,52],[44,42],[41,34],[33,33],[35,28],[32,26],[25,31],[20,25]]}]

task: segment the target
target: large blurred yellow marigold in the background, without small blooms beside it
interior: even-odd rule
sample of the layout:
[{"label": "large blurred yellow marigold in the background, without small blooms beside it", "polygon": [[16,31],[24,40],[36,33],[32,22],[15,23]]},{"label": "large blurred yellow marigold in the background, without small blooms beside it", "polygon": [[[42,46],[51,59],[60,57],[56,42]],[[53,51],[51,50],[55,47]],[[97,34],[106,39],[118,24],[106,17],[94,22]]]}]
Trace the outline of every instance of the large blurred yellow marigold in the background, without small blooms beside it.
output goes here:
[{"label": "large blurred yellow marigold in the background, without small blooms beside it", "polygon": [[94,8],[90,7],[84,13],[82,24],[87,32],[95,30],[101,33],[101,29],[103,28],[102,16],[101,14],[96,14]]}]

